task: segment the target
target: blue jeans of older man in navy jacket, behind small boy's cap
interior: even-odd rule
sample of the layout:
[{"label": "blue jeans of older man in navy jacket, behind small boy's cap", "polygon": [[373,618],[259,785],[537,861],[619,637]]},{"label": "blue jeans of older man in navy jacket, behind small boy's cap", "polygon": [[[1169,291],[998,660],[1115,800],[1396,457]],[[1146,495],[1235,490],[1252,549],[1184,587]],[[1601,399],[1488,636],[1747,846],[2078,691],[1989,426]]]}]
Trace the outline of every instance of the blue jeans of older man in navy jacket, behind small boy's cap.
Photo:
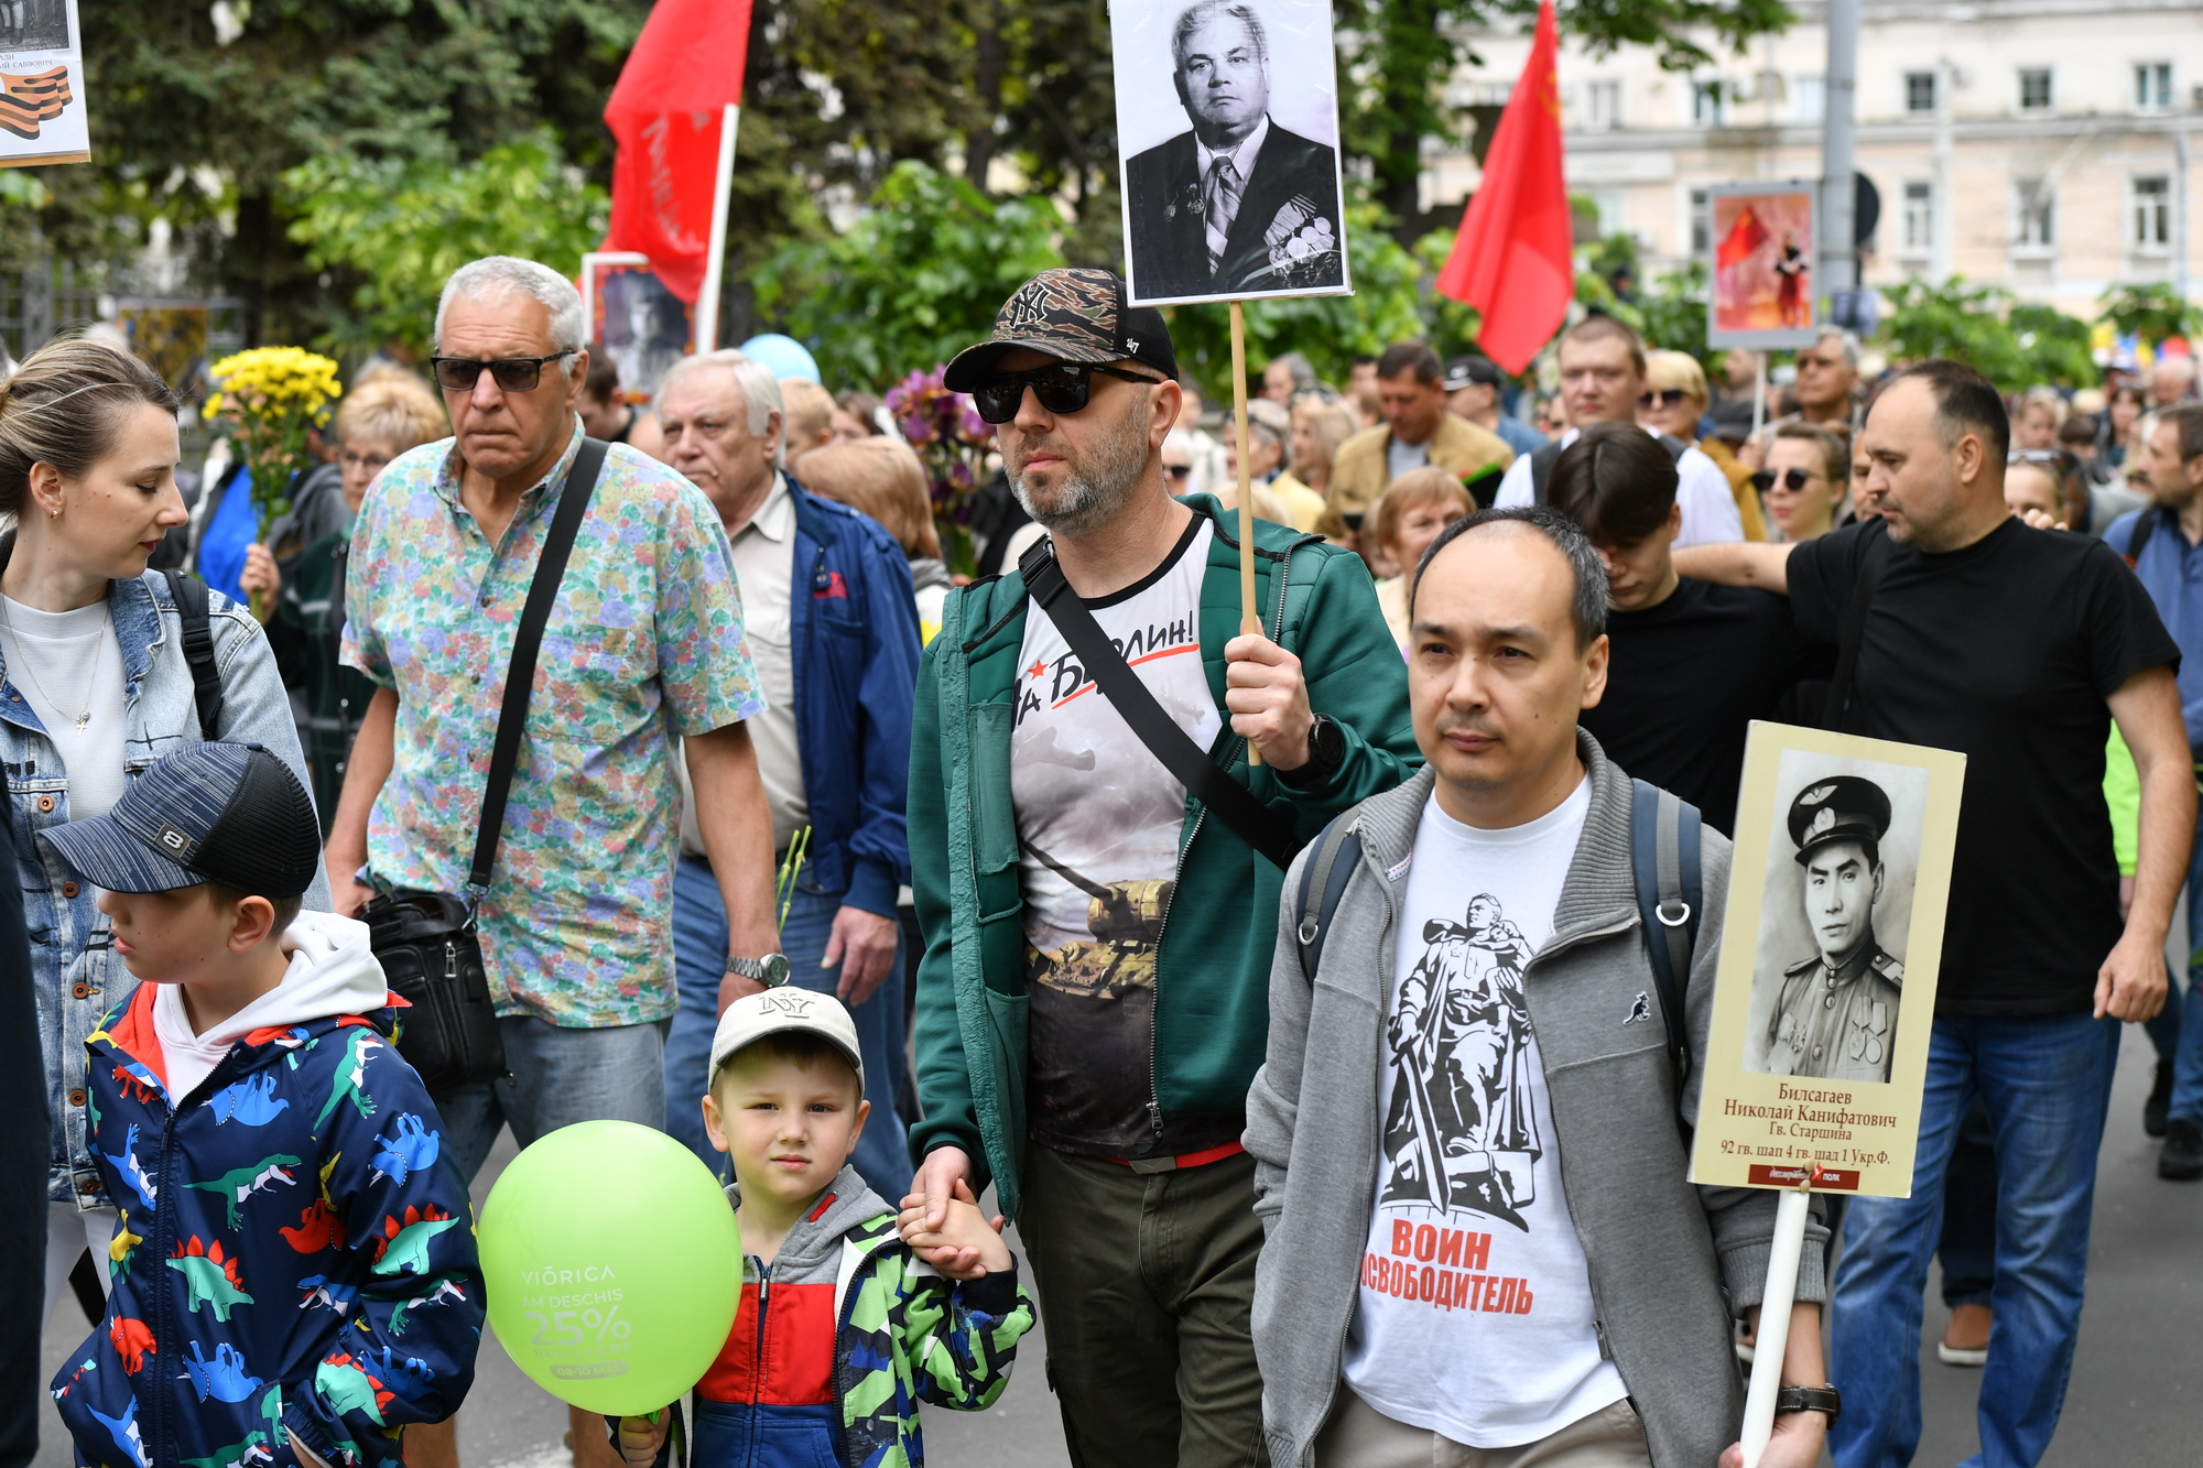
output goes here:
[{"label": "blue jeans of older man in navy jacket, behind small boy's cap", "polygon": [[[817,994],[833,994],[842,983],[842,965],[820,968],[833,917],[842,910],[839,893],[820,893],[795,882],[789,919],[780,924],[780,950],[789,957],[789,983]],[[727,908],[718,897],[712,864],[681,857],[674,871],[674,976],[681,985],[681,1012],[665,1036],[665,1131],[690,1146],[714,1173],[725,1173],[727,1159],[703,1133],[703,1093],[709,1084],[712,1034],[718,1029],[718,981],[727,972]],[[850,1010],[857,1021],[857,1049],[864,1054],[864,1098],[872,1115],[857,1137],[850,1162],[864,1173],[872,1192],[901,1203],[910,1190],[910,1140],[903,1118],[894,1113],[894,1087],[903,1067],[903,959],[897,952],[888,976],[872,996]]]}]

